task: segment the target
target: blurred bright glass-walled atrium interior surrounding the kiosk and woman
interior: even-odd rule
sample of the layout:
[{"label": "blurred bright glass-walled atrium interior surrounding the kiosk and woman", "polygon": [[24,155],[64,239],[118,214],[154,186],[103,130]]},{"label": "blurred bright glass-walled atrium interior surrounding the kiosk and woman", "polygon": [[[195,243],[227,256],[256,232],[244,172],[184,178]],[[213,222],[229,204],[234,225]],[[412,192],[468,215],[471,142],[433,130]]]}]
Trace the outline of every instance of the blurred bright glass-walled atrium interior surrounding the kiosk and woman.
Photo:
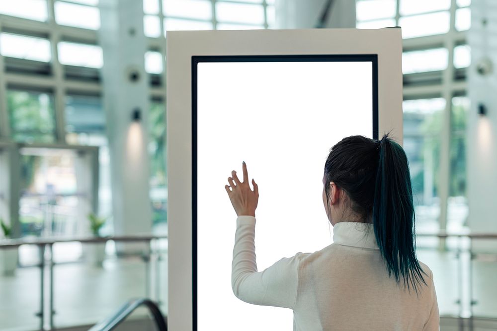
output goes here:
[{"label": "blurred bright glass-walled atrium interior surrounding the kiosk and woman", "polygon": [[167,31],[394,26],[441,329],[497,330],[496,23],[494,0],[0,0],[0,330],[166,315]]}]

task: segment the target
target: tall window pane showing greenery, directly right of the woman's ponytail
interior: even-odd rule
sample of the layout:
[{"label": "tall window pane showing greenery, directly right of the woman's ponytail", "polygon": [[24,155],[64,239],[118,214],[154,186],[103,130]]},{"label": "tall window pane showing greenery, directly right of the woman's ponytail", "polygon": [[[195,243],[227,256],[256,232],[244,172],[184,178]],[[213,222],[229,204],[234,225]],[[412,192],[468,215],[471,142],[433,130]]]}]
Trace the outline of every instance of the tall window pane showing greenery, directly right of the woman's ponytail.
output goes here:
[{"label": "tall window pane showing greenery, directly right of the woman's ponytail", "polygon": [[404,149],[413,184],[416,230],[437,228],[438,174],[445,99],[408,100],[404,108]]}]

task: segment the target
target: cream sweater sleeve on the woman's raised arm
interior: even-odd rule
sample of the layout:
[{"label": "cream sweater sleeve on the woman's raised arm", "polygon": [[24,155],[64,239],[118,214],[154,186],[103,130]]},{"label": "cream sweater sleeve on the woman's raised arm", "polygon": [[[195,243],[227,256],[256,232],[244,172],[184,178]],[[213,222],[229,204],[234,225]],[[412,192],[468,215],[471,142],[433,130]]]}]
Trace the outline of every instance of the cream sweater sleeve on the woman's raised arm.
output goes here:
[{"label": "cream sweater sleeve on the woman's raised arm", "polygon": [[302,254],[281,259],[264,271],[257,272],[254,238],[255,217],[239,216],[231,274],[233,293],[251,304],[293,308]]}]

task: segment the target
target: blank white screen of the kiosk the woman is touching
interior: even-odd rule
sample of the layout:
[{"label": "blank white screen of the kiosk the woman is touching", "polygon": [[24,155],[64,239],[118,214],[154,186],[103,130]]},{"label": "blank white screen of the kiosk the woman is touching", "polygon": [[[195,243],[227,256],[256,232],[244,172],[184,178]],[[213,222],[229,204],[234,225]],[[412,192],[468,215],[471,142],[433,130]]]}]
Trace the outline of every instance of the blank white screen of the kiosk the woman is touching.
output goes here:
[{"label": "blank white screen of the kiosk the woman is touching", "polygon": [[[197,65],[198,330],[292,330],[292,311],[254,306],[231,289],[236,214],[232,170],[259,186],[258,270],[331,244],[323,205],[330,148],[372,137],[372,62],[216,62]],[[194,220],[195,221],[195,220]]]}]

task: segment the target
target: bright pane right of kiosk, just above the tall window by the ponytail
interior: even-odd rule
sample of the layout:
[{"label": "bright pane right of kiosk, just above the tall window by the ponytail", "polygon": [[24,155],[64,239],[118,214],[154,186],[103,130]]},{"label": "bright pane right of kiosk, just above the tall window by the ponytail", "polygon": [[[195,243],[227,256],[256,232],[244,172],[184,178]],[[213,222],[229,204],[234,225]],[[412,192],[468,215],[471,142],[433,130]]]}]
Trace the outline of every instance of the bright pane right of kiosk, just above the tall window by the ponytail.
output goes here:
[{"label": "bright pane right of kiosk, just above the tall window by the ponytail", "polygon": [[448,53],[446,48],[405,52],[402,54],[402,72],[444,70],[447,68]]}]

